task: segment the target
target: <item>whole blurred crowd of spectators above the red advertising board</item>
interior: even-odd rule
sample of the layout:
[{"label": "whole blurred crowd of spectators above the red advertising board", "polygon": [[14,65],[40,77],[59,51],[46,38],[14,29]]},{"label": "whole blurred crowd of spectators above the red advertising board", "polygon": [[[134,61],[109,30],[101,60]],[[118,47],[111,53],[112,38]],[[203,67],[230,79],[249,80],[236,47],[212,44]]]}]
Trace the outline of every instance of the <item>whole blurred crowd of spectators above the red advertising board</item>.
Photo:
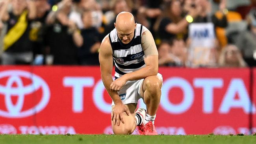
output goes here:
[{"label": "whole blurred crowd of spectators above the red advertising board", "polygon": [[159,66],[256,66],[256,0],[0,0],[0,62],[99,65],[122,11],[151,31]]}]

